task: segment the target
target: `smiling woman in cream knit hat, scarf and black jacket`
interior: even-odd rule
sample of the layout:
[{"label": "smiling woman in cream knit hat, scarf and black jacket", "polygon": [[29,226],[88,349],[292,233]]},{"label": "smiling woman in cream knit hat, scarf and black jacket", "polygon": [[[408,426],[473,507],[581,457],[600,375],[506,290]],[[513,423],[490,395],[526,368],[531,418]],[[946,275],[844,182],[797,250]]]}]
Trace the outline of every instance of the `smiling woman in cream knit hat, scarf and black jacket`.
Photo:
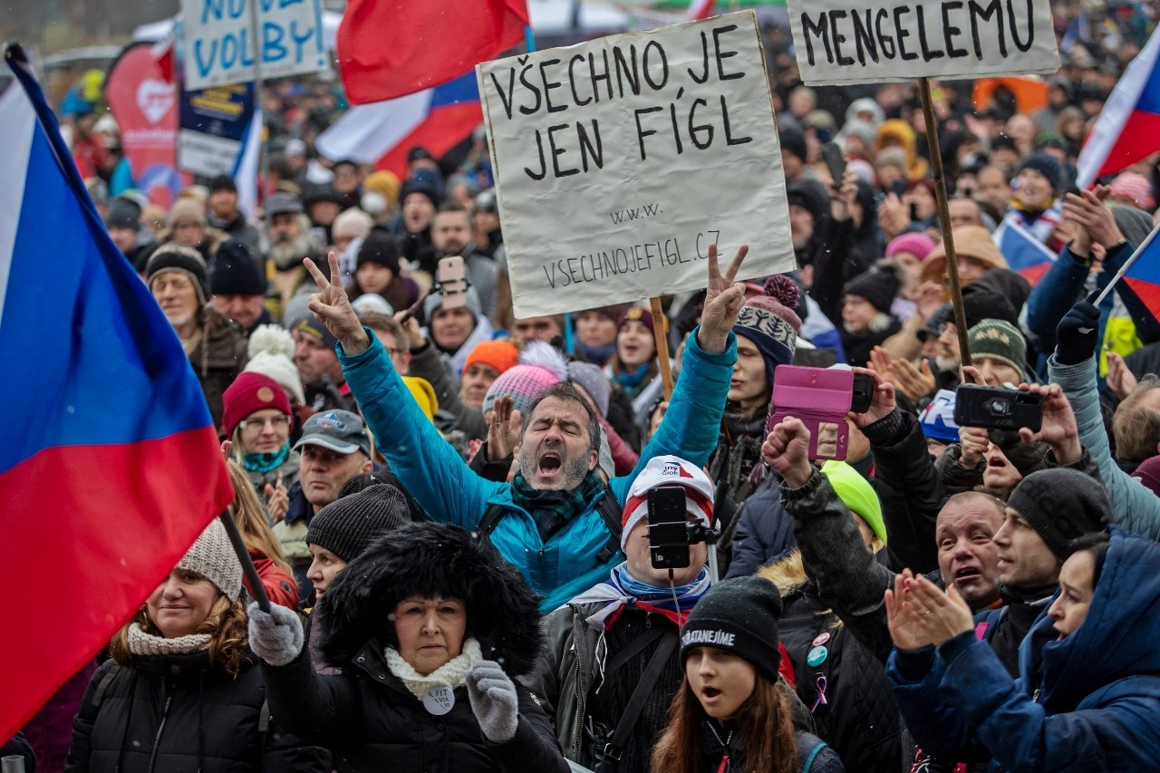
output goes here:
[{"label": "smiling woman in cream knit hat, scarf and black jacket", "polygon": [[66,771],[331,770],[280,730],[246,648],[241,564],[213,521],[110,644],[73,722]]}]

